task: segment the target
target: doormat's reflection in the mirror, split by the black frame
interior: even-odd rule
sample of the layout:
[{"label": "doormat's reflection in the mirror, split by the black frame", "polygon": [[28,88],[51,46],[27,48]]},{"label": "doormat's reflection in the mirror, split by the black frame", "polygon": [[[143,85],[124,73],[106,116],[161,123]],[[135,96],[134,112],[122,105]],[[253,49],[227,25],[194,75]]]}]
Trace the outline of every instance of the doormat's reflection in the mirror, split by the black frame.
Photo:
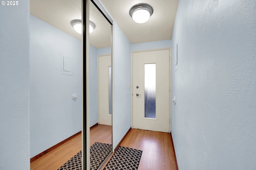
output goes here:
[{"label": "doormat's reflection in the mirror, split by the black frame", "polygon": [[[111,144],[95,142],[90,147],[90,170],[96,170],[111,150]],[[78,152],[58,170],[82,170],[82,151]]]}]

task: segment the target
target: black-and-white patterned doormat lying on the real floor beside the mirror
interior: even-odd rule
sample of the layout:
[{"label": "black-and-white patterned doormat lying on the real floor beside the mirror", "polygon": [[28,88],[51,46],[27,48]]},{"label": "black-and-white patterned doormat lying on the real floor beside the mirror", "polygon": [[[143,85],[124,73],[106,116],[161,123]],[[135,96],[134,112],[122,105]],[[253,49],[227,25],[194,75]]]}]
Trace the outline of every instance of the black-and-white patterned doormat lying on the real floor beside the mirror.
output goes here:
[{"label": "black-and-white patterned doormat lying on the real floor beside the mirror", "polygon": [[137,170],[142,150],[119,146],[104,170]]}]

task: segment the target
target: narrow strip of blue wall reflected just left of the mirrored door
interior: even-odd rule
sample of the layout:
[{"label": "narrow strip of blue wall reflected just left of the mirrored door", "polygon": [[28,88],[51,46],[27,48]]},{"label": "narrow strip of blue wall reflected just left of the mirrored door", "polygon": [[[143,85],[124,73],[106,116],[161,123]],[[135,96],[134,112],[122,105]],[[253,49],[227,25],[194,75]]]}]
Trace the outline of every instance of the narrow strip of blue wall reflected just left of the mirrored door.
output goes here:
[{"label": "narrow strip of blue wall reflected just left of the mirrored door", "polygon": [[89,58],[89,86],[90,86],[90,127],[98,123],[98,83],[97,83],[97,49],[90,45],[90,58]]}]

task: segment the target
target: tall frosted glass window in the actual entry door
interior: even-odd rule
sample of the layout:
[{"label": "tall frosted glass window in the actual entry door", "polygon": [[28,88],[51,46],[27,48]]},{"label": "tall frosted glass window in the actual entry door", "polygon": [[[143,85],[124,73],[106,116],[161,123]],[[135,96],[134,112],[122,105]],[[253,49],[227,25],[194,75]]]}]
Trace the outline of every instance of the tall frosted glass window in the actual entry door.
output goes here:
[{"label": "tall frosted glass window in the actual entry door", "polygon": [[156,119],[156,63],[144,64],[145,118]]}]

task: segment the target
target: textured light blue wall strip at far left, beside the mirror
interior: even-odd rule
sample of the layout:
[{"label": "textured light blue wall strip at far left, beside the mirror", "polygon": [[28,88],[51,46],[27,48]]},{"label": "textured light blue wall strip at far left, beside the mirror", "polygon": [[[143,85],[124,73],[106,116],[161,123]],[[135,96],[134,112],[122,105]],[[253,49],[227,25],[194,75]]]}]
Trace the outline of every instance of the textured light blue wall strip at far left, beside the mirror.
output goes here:
[{"label": "textured light blue wall strip at far left, beside the mirror", "polygon": [[29,0],[0,7],[0,169],[30,169]]}]

